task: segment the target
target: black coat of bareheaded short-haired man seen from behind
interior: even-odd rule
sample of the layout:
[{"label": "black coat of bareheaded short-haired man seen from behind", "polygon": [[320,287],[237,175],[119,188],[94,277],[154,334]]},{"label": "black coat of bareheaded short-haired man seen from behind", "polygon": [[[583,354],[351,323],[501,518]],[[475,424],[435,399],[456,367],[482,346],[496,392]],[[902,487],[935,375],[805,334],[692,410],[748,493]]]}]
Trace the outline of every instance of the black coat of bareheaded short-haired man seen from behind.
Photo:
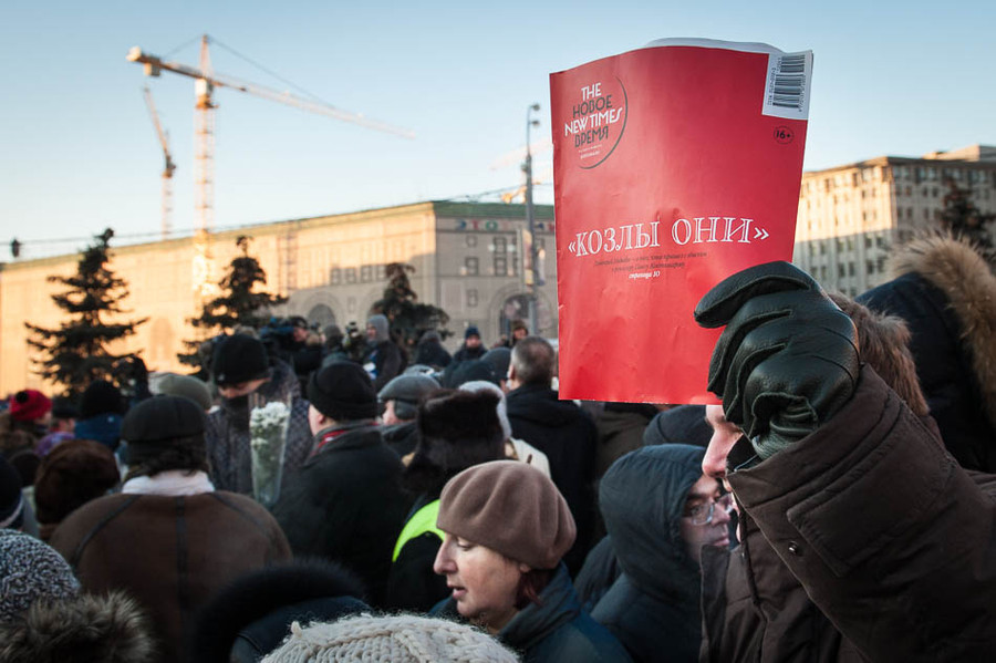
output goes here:
[{"label": "black coat of bareheaded short-haired man seen from behind", "polygon": [[506,397],[512,436],[547,455],[550,478],[567,500],[578,539],[564,556],[571,572],[584,562],[595,521],[594,472],[598,432],[591,418],[570,401],[560,401],[544,385],[526,384]]}]

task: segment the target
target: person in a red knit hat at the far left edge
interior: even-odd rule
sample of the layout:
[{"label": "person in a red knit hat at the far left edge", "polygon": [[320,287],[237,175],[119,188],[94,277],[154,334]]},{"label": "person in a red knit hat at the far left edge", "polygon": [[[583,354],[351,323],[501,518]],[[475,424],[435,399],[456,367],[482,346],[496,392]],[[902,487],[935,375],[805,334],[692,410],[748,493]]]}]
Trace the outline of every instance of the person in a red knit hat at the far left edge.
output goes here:
[{"label": "person in a red knit hat at the far left edge", "polygon": [[0,453],[7,458],[21,486],[34,485],[41,463],[35,453],[52,419],[52,401],[38,390],[21,390],[11,396],[7,412],[0,413]]}]

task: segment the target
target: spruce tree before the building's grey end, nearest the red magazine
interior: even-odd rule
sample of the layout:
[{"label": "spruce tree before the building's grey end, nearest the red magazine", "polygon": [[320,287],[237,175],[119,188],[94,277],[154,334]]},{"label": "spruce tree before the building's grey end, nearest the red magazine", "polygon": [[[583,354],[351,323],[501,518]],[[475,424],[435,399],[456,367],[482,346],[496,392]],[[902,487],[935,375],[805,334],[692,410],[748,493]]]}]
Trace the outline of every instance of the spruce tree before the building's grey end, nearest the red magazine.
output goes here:
[{"label": "spruce tree before the building's grey end, nearest the red magazine", "polygon": [[449,315],[433,304],[422,303],[408,281],[408,272],[414,273],[411,265],[392,262],[385,267],[387,287],[384,297],[374,302],[372,313],[383,313],[391,321],[391,331],[405,350],[411,350],[418,338],[428,330],[436,330],[446,339],[452,332],[445,327]]}]

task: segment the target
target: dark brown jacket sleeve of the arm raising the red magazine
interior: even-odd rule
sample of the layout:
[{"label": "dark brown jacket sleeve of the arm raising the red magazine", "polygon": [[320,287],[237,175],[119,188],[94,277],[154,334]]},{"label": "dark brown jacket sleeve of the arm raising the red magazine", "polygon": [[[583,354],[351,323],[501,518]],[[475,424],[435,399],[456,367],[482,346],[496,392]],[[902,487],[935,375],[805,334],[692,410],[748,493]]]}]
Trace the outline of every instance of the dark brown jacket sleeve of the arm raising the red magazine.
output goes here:
[{"label": "dark brown jacket sleeve of the arm raising the red magazine", "polygon": [[996,504],[871,369],[832,419],[730,483],[871,660],[996,651]]}]

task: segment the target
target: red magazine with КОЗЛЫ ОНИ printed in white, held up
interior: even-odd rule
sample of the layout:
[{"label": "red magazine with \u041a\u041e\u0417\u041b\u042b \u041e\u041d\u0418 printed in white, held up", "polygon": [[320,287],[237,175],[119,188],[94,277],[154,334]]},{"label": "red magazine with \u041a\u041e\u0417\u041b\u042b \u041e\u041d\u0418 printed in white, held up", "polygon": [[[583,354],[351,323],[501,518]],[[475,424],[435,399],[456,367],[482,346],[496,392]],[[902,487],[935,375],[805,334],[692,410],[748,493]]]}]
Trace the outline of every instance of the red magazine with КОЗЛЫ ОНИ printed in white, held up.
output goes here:
[{"label": "red magazine with \u041a\u041e\u0417\u041b\u042b \u041e\u041d\u0418 printed in white, held up", "polygon": [[812,52],[661,40],[550,74],[560,396],[715,403],[725,277],[791,260]]}]

